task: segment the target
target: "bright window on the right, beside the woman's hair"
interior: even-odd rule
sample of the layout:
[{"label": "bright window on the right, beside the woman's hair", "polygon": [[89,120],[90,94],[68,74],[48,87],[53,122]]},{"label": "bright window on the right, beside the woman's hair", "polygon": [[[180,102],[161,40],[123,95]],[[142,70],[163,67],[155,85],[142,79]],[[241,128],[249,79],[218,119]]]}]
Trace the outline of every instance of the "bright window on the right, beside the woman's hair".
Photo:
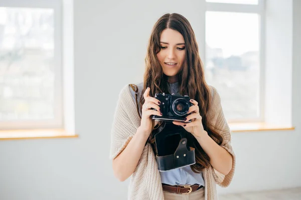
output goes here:
[{"label": "bright window on the right, beside the woman's hair", "polygon": [[243,1],[244,5],[230,4],[241,2],[207,0],[206,80],[218,89],[228,121],[261,121],[261,4],[258,0]]}]

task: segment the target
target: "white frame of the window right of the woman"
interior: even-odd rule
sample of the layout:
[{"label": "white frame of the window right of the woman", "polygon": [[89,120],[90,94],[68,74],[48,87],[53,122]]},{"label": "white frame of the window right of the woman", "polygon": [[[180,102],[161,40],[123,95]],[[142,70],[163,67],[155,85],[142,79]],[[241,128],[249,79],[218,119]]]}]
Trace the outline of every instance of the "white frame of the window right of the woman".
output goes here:
[{"label": "white frame of the window right of the woman", "polygon": [[[206,0],[205,0],[206,1]],[[264,122],[264,93],[265,93],[265,0],[258,0],[258,4],[238,4],[207,2],[205,8],[205,20],[207,11],[256,13],[259,16],[259,116],[254,118],[227,119],[229,123]],[[206,36],[204,38],[206,43]],[[206,54],[206,48],[205,48]],[[206,63],[206,58],[204,59]],[[206,69],[205,69],[206,70]]]}]

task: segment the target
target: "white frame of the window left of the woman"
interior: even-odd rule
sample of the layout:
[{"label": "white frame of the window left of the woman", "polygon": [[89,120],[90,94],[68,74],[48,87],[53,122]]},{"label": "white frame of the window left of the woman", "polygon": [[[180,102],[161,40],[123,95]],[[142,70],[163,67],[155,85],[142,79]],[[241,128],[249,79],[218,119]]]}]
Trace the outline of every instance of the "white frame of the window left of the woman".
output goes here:
[{"label": "white frame of the window left of the woman", "polygon": [[[62,128],[63,116],[63,64],[62,64],[62,0],[0,0],[0,7],[52,8],[54,11],[54,118],[45,120],[0,120],[0,129]],[[16,128],[18,127],[18,128]]]}]

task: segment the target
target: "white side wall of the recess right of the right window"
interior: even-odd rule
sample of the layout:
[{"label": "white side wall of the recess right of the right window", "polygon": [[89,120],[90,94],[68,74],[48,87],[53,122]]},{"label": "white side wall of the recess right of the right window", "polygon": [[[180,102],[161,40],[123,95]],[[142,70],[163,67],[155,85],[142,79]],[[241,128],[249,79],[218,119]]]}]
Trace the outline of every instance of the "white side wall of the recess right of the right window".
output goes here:
[{"label": "white side wall of the recess right of the right window", "polygon": [[286,127],[292,121],[292,9],[292,0],[266,0],[264,116]]}]

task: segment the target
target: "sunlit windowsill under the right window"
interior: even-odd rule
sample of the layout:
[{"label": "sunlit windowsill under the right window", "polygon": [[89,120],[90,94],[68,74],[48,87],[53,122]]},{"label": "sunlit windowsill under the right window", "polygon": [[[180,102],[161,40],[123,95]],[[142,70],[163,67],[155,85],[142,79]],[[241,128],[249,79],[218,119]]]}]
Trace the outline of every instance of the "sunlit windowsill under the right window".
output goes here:
[{"label": "sunlit windowsill under the right window", "polygon": [[267,123],[229,123],[231,132],[266,131],[266,130],[294,130],[293,126],[275,125]]}]

